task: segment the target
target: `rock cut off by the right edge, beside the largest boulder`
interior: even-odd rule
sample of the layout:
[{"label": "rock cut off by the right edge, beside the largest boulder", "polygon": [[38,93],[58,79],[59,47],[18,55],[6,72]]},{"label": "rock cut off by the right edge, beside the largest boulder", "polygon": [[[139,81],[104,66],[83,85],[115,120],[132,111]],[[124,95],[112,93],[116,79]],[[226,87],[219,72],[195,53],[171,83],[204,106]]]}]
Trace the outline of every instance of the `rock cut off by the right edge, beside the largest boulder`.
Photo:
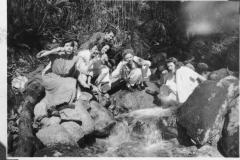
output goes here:
[{"label": "rock cut off by the right edge, beside the largest boulder", "polygon": [[239,92],[228,105],[230,108],[223,126],[221,146],[227,157],[239,157]]}]

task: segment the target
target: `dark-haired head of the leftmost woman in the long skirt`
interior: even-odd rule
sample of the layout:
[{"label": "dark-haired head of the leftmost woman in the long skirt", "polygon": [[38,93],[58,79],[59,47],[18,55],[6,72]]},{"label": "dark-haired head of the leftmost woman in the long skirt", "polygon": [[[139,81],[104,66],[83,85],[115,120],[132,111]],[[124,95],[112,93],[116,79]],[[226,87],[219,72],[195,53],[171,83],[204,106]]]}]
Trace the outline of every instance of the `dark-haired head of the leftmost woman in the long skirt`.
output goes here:
[{"label": "dark-haired head of the leftmost woman in the long skirt", "polygon": [[78,47],[77,38],[72,35],[65,35],[60,46],[64,48],[67,54],[72,54]]}]

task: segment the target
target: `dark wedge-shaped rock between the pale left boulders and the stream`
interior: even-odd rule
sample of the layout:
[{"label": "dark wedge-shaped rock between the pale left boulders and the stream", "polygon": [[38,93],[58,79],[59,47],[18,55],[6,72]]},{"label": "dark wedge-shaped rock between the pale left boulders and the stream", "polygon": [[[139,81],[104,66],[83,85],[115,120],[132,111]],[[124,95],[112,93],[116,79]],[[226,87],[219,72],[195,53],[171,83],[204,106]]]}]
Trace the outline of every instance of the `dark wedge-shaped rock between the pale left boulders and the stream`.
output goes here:
[{"label": "dark wedge-shaped rock between the pale left boulders and the stream", "polygon": [[91,101],[90,104],[90,115],[94,120],[95,131],[105,132],[105,129],[107,129],[107,127],[111,128],[115,125],[113,116],[110,112],[108,112],[106,108],[99,105],[96,101]]}]

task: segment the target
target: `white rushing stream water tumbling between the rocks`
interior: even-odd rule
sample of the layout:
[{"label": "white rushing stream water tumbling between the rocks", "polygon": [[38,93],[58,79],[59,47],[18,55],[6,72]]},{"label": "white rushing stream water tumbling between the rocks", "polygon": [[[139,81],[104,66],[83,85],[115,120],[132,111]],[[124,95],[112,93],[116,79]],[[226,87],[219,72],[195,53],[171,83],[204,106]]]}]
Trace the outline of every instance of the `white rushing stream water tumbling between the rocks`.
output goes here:
[{"label": "white rushing stream water tumbling between the rocks", "polygon": [[[176,108],[175,108],[176,109]],[[176,139],[164,139],[167,132],[166,117],[173,108],[149,108],[122,114],[106,139],[97,139],[97,145],[105,152],[104,157],[173,157]],[[174,138],[174,132],[172,133]]]}]

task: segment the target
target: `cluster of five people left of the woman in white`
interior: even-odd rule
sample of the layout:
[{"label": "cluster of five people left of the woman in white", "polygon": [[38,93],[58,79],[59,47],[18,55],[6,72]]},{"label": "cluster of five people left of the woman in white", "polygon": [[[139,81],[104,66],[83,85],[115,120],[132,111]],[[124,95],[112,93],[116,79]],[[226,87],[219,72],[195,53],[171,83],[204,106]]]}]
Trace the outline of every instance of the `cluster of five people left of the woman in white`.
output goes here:
[{"label": "cluster of five people left of the woman in white", "polygon": [[132,49],[125,49],[117,65],[109,59],[115,35],[113,30],[97,32],[80,47],[75,36],[66,35],[60,47],[39,52],[37,58],[48,56],[50,63],[42,72],[46,95],[38,105],[50,108],[73,103],[77,85],[93,94],[106,94],[102,85],[108,85],[110,90],[111,83],[119,78],[126,82],[129,91],[142,90],[143,81],[151,74],[151,62],[134,56]]}]

